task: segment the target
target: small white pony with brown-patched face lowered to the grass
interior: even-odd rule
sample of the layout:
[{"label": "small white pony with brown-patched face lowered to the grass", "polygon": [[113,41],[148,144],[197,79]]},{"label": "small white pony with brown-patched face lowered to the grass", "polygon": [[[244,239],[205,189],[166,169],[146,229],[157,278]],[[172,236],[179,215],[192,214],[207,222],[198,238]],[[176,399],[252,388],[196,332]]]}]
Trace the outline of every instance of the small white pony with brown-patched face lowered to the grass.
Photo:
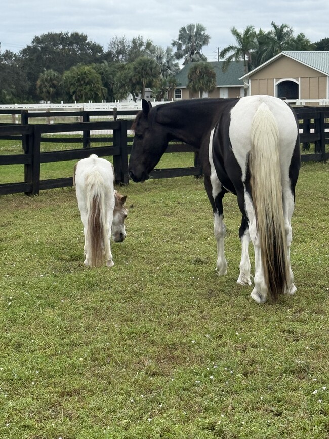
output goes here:
[{"label": "small white pony with brown-patched face lowered to the grass", "polygon": [[99,267],[105,259],[112,267],[111,233],[115,242],[124,241],[127,217],[127,196],[114,190],[112,164],[95,154],[79,160],[74,166],[73,186],[84,225],[85,265]]}]

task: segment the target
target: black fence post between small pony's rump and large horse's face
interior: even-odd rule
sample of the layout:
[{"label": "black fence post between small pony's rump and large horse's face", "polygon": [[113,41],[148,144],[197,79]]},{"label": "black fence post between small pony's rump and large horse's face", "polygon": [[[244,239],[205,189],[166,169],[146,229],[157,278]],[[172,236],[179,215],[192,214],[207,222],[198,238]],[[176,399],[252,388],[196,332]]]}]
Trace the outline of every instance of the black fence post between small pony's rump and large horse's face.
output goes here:
[{"label": "black fence post between small pony's rump and large horse's face", "polygon": [[120,121],[118,130],[113,130],[113,146],[119,146],[120,155],[113,155],[115,184],[129,184],[128,152],[127,152],[127,121]]}]

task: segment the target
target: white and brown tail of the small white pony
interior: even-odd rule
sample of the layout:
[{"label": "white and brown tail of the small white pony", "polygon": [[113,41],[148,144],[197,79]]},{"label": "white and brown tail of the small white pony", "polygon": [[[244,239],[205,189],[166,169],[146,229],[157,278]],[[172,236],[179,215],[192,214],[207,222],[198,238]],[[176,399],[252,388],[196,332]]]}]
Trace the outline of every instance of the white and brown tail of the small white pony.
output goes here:
[{"label": "white and brown tail of the small white pony", "polygon": [[99,267],[109,253],[109,242],[105,186],[104,180],[97,169],[92,170],[87,175],[86,189],[88,262],[91,267]]}]

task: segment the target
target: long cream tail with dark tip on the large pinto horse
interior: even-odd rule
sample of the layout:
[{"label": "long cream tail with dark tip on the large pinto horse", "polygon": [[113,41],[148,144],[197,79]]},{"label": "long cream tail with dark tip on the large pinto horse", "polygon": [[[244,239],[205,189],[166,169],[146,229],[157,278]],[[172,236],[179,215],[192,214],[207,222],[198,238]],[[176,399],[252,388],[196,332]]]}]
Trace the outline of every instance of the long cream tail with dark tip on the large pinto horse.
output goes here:
[{"label": "long cream tail with dark tip on the large pinto horse", "polygon": [[251,196],[260,240],[264,278],[275,301],[287,289],[289,262],[284,229],[279,130],[262,103],[253,118],[249,154]]}]

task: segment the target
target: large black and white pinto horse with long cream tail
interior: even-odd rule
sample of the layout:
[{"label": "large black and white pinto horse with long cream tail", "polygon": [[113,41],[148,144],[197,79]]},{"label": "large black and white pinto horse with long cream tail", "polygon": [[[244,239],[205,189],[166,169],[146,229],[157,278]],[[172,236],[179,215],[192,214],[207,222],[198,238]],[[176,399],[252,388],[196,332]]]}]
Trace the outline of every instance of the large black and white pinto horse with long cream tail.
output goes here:
[{"label": "large black and white pinto horse with long cream tail", "polygon": [[291,218],[300,169],[298,121],[281,99],[258,95],[237,99],[196,99],[158,105],[145,100],[137,114],[129,175],[145,181],[168,142],[180,140],[199,151],[204,185],[214,211],[217,272],[226,274],[223,196],[237,196],[242,221],[239,284],[251,285],[248,254],[255,250],[258,303],[269,295],[294,294],[290,264]]}]

